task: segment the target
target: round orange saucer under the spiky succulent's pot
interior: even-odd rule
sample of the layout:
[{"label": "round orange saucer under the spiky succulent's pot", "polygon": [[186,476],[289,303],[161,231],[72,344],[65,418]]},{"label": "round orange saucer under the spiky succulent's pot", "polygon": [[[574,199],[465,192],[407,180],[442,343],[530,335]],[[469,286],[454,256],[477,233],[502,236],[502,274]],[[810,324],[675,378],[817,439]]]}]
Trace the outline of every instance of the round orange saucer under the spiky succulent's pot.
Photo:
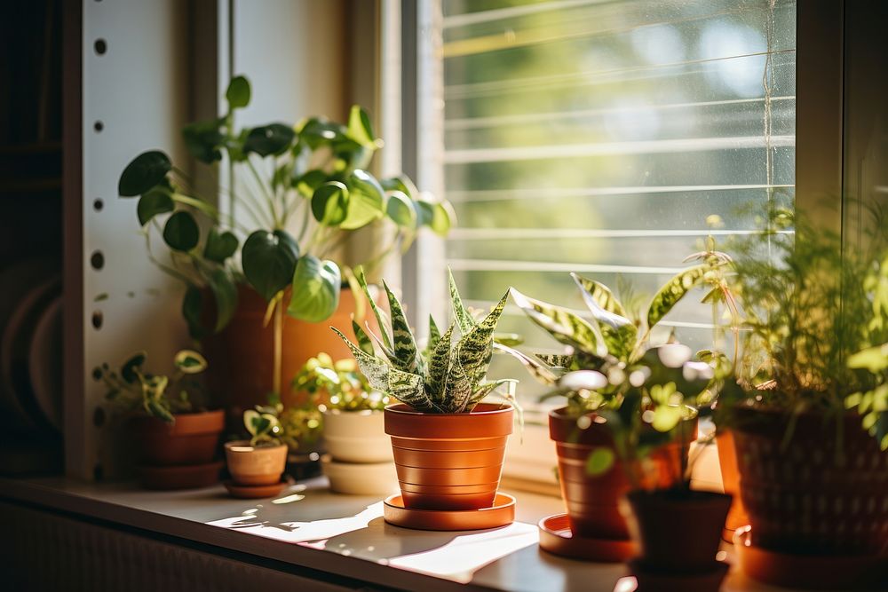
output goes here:
[{"label": "round orange saucer under the spiky succulent's pot", "polygon": [[511,525],[515,520],[515,498],[496,493],[494,505],[481,509],[410,509],[400,495],[390,495],[383,504],[385,522],[425,531],[474,531]]}]

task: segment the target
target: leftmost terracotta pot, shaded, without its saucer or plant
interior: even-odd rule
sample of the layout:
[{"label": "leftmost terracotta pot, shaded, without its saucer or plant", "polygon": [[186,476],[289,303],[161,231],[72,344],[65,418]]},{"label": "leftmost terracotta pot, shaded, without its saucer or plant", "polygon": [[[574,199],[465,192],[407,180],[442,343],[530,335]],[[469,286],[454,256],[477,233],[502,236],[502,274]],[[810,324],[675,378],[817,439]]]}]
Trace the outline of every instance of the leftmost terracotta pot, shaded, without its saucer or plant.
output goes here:
[{"label": "leftmost terracotta pot, shaded, without its saucer or plant", "polygon": [[211,462],[224,427],[225,413],[222,410],[178,414],[172,424],[155,417],[132,419],[140,462],[147,465]]}]

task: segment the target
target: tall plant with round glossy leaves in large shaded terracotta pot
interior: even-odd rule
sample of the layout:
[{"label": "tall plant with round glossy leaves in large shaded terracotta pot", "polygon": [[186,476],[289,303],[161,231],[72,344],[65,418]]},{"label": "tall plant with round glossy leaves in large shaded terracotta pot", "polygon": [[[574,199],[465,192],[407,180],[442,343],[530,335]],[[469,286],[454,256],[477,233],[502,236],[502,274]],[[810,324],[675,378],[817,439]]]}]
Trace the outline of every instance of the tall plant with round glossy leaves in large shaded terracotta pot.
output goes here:
[{"label": "tall plant with round glossy leaves in large shaded terracotta pot", "polygon": [[[139,198],[149,257],[186,285],[182,314],[191,334],[207,340],[211,386],[239,415],[268,391],[281,394],[283,377],[319,348],[348,355],[319,323],[333,315],[345,328],[363,314],[357,290],[342,292],[356,288],[343,250],[353,233],[373,226],[385,234],[357,257],[373,272],[421,228],[447,233],[450,216],[408,178],[368,172],[382,141],[361,107],[345,124],[311,117],[238,128],[235,112],[250,103],[245,77],[232,79],[226,101],[223,116],[182,130],[198,162],[229,165],[219,184],[225,208],[158,150],[127,165],[118,191]],[[155,256],[157,235],[165,257]]]}]

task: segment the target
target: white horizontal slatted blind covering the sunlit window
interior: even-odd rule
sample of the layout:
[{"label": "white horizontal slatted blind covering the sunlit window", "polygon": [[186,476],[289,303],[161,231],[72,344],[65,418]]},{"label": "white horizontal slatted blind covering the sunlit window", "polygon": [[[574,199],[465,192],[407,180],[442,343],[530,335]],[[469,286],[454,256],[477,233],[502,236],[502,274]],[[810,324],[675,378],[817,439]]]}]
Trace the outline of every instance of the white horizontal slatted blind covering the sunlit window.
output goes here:
[{"label": "white horizontal slatted blind covering the sunlit window", "polygon": [[[570,271],[650,296],[707,217],[749,233],[744,206],[792,195],[794,1],[441,7],[447,258],[471,304],[511,285],[579,310]],[[667,320],[692,345],[710,338],[699,299]],[[517,310],[500,327],[552,347]]]}]

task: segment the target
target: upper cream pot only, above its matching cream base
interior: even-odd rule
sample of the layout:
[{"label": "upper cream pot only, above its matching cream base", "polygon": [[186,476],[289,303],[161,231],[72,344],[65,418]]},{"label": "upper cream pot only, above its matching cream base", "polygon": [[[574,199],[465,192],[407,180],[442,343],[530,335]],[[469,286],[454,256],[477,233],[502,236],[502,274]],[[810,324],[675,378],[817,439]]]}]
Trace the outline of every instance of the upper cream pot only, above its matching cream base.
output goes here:
[{"label": "upper cream pot only, above its matching cream base", "polygon": [[324,442],[336,462],[392,462],[382,411],[325,411]]}]

